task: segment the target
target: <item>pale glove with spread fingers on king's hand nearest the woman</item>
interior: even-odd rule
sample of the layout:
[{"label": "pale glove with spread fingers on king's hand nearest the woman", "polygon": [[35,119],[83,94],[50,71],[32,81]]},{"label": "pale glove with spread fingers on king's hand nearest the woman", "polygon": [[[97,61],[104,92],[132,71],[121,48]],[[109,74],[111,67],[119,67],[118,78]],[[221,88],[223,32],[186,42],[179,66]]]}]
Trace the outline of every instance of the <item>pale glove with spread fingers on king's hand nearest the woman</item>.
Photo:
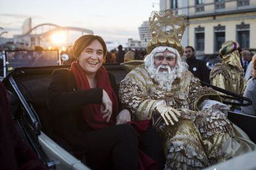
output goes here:
[{"label": "pale glove with spread fingers on king's hand nearest the woman", "polygon": [[163,117],[166,125],[169,125],[169,122],[171,123],[171,125],[174,125],[174,121],[179,121],[177,117],[181,116],[181,113],[179,113],[179,111],[177,111],[174,108],[171,108],[171,106],[166,106],[166,104],[156,106],[155,109],[156,112],[159,113],[161,117]]}]

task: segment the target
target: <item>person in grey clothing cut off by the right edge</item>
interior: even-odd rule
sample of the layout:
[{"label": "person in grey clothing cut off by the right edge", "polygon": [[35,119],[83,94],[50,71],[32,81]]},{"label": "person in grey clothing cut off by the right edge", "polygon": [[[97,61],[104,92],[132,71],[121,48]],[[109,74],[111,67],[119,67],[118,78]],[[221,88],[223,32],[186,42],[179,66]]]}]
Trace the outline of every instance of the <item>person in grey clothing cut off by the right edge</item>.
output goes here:
[{"label": "person in grey clothing cut off by the right edge", "polygon": [[242,113],[256,116],[256,54],[252,57],[252,69],[250,73],[252,79],[247,82],[244,97],[252,100],[252,105],[242,107]]}]

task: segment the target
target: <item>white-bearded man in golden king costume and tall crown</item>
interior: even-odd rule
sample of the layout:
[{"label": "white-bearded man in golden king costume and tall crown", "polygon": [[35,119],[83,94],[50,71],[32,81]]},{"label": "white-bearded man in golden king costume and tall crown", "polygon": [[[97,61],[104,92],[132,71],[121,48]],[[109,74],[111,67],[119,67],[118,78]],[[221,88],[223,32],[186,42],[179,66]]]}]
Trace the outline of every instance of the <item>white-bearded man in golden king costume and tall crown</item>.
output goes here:
[{"label": "white-bearded man in golden king costume and tall crown", "polygon": [[163,139],[165,169],[201,169],[254,150],[228,121],[229,108],[216,91],[202,87],[181,61],[186,16],[152,12],[149,22],[148,55],[121,81],[119,97],[134,121],[152,120]]}]

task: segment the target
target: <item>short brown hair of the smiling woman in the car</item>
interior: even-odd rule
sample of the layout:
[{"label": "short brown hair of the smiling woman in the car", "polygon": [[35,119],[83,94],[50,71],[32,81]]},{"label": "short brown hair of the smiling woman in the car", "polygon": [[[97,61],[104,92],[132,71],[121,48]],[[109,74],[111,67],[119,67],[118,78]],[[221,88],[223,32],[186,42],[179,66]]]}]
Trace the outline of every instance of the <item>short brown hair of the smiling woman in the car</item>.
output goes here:
[{"label": "short brown hair of the smiling woman in the car", "polygon": [[74,54],[75,59],[78,59],[80,54],[82,53],[83,49],[87,48],[87,46],[90,46],[93,40],[98,40],[100,44],[103,47],[103,55],[104,59],[107,54],[107,49],[106,49],[106,43],[105,41],[98,35],[83,35],[80,36],[74,43],[72,47],[72,51]]}]

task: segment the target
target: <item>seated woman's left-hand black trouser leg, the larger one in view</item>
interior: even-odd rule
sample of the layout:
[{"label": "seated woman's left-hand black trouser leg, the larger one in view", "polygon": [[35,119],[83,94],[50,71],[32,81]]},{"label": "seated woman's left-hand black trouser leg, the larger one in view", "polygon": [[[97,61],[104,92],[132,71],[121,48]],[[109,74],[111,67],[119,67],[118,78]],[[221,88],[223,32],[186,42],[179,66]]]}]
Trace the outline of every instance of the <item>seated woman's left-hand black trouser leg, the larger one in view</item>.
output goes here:
[{"label": "seated woman's left-hand black trouser leg, the larger one in view", "polygon": [[88,132],[85,159],[92,169],[138,169],[139,144],[129,124]]}]

